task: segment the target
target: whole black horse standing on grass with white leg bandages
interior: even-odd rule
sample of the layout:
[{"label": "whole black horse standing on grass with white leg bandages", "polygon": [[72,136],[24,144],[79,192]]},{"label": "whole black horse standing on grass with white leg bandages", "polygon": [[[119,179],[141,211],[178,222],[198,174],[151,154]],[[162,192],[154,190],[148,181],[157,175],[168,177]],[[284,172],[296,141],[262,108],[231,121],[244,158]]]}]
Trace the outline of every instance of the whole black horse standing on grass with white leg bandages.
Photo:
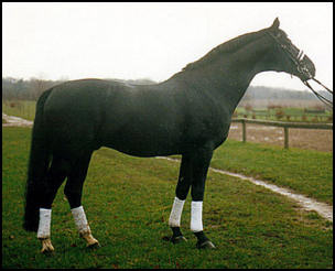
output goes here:
[{"label": "whole black horse standing on grass with white leg bandages", "polygon": [[24,228],[37,231],[42,251],[51,251],[51,208],[64,193],[88,246],[98,245],[82,207],[82,189],[91,154],[109,147],[136,156],[182,154],[169,225],[171,241],[184,240],[180,219],[190,188],[191,229],[197,248],[214,248],[203,231],[202,204],[213,152],[228,137],[231,116],[256,74],[285,72],[303,82],[315,67],[279,29],[247,33],[218,45],[170,79],[128,85],[82,79],[55,86],[36,104],[25,191]]}]

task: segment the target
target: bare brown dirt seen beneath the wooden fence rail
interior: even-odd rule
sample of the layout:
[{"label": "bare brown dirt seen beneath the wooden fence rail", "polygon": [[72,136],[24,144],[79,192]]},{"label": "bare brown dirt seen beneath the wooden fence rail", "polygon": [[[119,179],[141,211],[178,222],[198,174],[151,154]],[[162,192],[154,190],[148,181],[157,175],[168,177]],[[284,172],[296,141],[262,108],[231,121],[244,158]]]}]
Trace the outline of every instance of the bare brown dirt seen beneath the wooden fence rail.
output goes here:
[{"label": "bare brown dirt seen beneath the wooden fence rail", "polygon": [[[231,123],[229,139],[242,140],[242,124]],[[279,127],[247,124],[247,142],[284,145],[284,130]],[[333,152],[333,130],[289,129],[289,148]]]}]

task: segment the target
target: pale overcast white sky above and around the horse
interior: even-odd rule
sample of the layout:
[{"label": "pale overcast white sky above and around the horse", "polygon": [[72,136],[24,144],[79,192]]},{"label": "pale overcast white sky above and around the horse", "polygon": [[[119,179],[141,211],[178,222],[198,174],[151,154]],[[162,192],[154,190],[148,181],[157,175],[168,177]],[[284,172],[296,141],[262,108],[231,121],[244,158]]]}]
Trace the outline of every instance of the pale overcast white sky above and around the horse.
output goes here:
[{"label": "pale overcast white sky above and around the horse", "polygon": [[[213,47],[280,28],[333,88],[333,3],[2,3],[2,77],[162,82]],[[283,73],[251,85],[305,89]]]}]

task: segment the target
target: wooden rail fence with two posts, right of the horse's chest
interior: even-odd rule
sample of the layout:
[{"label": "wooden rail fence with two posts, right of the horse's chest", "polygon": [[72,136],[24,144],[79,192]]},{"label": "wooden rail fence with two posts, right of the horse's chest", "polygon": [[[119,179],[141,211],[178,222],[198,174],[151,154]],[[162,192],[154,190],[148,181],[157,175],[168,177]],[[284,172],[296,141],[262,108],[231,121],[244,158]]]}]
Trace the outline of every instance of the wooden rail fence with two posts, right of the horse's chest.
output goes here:
[{"label": "wooden rail fence with two posts, right of the horse's chest", "polygon": [[284,121],[269,121],[269,120],[256,120],[246,118],[236,118],[231,122],[242,123],[242,141],[247,142],[247,123],[261,124],[261,126],[274,126],[282,127],[284,129],[284,148],[289,149],[289,129],[322,129],[333,130],[333,123],[305,123],[305,122],[284,122]]}]

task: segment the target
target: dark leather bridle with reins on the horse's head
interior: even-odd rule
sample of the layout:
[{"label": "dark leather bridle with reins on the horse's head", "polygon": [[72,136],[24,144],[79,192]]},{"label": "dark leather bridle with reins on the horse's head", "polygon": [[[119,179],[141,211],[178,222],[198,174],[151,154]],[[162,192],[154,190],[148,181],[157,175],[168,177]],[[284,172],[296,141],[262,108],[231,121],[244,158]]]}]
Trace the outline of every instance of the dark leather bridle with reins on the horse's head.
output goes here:
[{"label": "dark leather bridle with reins on the horse's head", "polygon": [[320,95],[318,93],[316,93],[316,91],[312,88],[312,86],[307,83],[309,79],[312,79],[312,80],[316,82],[318,85],[323,86],[329,94],[333,95],[333,90],[331,90],[329,88],[327,88],[326,86],[324,86],[321,82],[318,82],[316,78],[314,78],[314,77],[311,75],[309,68],[307,68],[306,65],[304,65],[304,63],[303,63],[303,58],[304,58],[304,53],[303,53],[303,51],[299,51],[298,55],[294,55],[294,54],[288,48],[287,45],[282,44],[282,43],[279,41],[279,39],[278,39],[275,35],[273,35],[271,32],[267,32],[267,33],[274,40],[274,42],[279,45],[279,47],[280,47],[280,48],[287,54],[287,56],[293,62],[293,64],[294,64],[295,67],[296,67],[296,71],[298,71],[300,74],[306,76],[307,79],[305,79],[305,80],[303,80],[303,79],[300,78],[300,79],[302,80],[302,83],[303,83],[306,87],[309,87],[309,88],[313,91],[313,94],[315,94],[315,96],[316,96],[322,102],[324,102],[327,107],[329,107],[329,108],[333,109],[333,101],[331,101],[329,99],[327,99],[327,98],[325,98],[324,96],[322,96],[322,95]]}]

